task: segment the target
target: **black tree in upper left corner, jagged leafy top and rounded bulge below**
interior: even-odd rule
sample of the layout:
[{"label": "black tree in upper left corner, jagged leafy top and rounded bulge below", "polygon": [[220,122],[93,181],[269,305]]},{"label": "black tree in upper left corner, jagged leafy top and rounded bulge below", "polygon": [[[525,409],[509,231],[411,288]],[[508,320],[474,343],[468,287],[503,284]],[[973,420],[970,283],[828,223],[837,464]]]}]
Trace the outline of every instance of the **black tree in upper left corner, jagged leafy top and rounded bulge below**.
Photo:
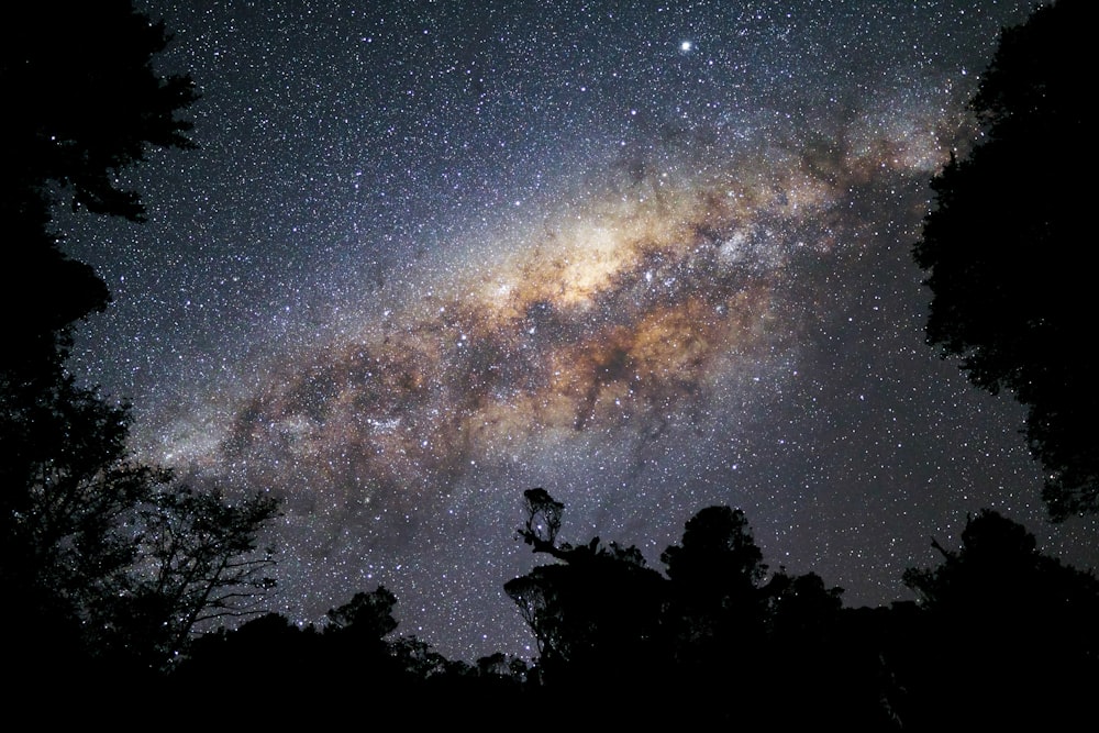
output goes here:
[{"label": "black tree in upper left corner, jagged leafy top and rounded bulge below", "polygon": [[[67,257],[52,209],[144,216],[140,196],[119,174],[151,147],[186,148],[197,97],[187,76],[160,76],[153,57],[170,37],[130,0],[26,3],[0,29],[0,216],[10,255],[0,268],[5,319],[0,375],[29,379],[56,367],[70,326],[102,310],[110,293],[87,265]],[[12,256],[12,253],[18,253]]]}]

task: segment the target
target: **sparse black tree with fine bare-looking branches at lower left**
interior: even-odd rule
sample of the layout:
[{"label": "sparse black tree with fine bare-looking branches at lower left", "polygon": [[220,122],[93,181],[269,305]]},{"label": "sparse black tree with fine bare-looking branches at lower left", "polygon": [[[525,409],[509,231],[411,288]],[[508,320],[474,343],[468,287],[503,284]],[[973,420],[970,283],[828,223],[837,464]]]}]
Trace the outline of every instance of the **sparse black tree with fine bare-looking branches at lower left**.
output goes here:
[{"label": "sparse black tree with fine bare-looking branches at lower left", "polygon": [[159,670],[200,624],[259,610],[274,558],[257,549],[257,534],[279,502],[195,491],[129,458],[124,420],[81,420],[80,408],[100,417],[98,400],[58,407],[68,433],[29,479],[0,566],[7,590],[33,609],[30,625],[59,636],[53,653],[27,637],[7,660],[51,664],[85,649],[135,673]]}]

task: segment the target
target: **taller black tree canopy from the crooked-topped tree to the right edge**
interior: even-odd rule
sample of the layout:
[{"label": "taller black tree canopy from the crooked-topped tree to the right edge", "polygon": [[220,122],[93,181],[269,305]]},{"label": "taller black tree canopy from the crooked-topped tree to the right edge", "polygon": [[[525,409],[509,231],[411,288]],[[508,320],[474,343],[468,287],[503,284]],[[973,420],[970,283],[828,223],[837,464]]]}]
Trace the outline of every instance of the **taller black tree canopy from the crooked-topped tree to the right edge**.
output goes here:
[{"label": "taller black tree canopy from the crooked-topped tree to the right edge", "polygon": [[582,704],[587,722],[1056,725],[1099,679],[1099,580],[991,510],[904,573],[917,601],[850,609],[814,573],[768,571],[740,510],[699,510],[660,575],[633,547],[558,544],[564,504],[524,499],[519,536],[552,559],[504,589],[539,641],[535,699]]}]

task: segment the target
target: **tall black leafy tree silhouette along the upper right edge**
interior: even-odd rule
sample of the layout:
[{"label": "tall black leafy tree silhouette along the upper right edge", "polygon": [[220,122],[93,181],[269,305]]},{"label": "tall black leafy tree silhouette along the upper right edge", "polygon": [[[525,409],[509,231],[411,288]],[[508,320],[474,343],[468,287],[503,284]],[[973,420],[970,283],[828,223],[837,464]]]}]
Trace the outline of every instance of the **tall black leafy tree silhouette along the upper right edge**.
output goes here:
[{"label": "tall black leafy tree silhouette along the upper right edge", "polygon": [[915,262],[933,299],[928,341],[970,381],[1012,393],[1045,470],[1054,519],[1099,511],[1099,362],[1091,296],[1091,33],[1088,0],[1006,29],[972,107],[981,137],[932,181]]}]

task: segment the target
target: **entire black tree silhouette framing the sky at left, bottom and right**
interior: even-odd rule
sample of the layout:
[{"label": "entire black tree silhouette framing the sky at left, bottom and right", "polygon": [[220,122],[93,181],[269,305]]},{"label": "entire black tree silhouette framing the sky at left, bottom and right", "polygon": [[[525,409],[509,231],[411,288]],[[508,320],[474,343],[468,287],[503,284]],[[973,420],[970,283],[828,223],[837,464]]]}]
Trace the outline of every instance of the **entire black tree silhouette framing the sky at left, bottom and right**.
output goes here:
[{"label": "entire black tree silhouette framing the sky at left, bottom and right", "polygon": [[[988,142],[935,178],[914,252],[935,293],[929,341],[1031,410],[1055,519],[1095,513],[1099,496],[1095,357],[1079,338],[1095,309],[1086,287],[1058,285],[1090,273],[1074,264],[1087,209],[1073,198],[1083,187],[1052,167],[1075,158],[1047,147],[1083,130],[1086,87],[1069,81],[1087,68],[1087,8],[1061,0],[1004,33],[975,100]],[[279,502],[264,487],[231,497],[135,460],[129,407],[67,366],[75,329],[110,292],[65,255],[54,207],[140,222],[119,173],[149,148],[193,145],[178,116],[193,85],[152,70],[169,36],[126,0],[21,12],[0,26],[12,110],[0,115],[12,251],[0,269],[0,689],[13,714],[917,731],[1086,718],[1099,580],[990,510],[956,542],[933,541],[936,565],[903,574],[915,600],[855,609],[813,573],[765,566],[737,509],[701,508],[657,569],[636,547],[562,542],[564,504],[531,489],[517,535],[546,562],[503,588],[537,642],[532,659],[447,659],[398,635],[384,587],[319,626],[269,612],[275,555],[259,537]],[[998,198],[1008,193],[1022,198]],[[1034,247],[1042,257],[1024,256]]]}]

